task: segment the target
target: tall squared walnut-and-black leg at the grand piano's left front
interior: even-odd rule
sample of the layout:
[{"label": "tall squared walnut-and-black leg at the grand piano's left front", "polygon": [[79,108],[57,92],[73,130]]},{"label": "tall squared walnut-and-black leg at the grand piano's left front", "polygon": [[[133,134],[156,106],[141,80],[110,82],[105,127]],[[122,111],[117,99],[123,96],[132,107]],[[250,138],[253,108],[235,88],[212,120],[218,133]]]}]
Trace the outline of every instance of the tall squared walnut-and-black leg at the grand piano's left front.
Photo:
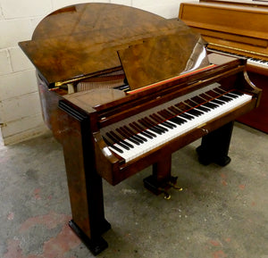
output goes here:
[{"label": "tall squared walnut-and-black leg at the grand piano's left front", "polygon": [[71,202],[71,229],[93,254],[107,246],[102,234],[111,228],[105,220],[102,178],[95,168],[90,122],[71,107],[62,107],[63,153]]}]

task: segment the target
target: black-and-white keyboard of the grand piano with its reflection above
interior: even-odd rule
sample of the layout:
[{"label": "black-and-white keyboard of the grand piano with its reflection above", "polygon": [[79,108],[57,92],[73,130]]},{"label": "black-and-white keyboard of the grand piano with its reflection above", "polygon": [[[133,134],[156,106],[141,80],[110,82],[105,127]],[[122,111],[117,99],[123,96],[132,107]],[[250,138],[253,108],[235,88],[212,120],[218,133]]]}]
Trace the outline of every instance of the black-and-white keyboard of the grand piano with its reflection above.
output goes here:
[{"label": "black-and-white keyboard of the grand piano with its reflection above", "polygon": [[130,162],[251,98],[214,83],[101,129],[101,135],[111,151]]}]

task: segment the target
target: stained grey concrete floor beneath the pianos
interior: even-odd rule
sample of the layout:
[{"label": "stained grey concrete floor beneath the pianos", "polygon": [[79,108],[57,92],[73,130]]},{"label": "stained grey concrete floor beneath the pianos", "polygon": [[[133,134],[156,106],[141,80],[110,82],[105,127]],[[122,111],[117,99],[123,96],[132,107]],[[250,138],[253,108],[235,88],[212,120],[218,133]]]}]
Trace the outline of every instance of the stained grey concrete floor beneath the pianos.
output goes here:
[{"label": "stained grey concrete floor beneath the pianos", "polygon": [[[236,124],[226,167],[197,162],[199,141],[172,155],[182,192],[149,193],[141,171],[104,182],[109,247],[98,257],[268,258],[268,136]],[[0,257],[94,257],[71,219],[61,146],[50,133],[0,147]]]}]

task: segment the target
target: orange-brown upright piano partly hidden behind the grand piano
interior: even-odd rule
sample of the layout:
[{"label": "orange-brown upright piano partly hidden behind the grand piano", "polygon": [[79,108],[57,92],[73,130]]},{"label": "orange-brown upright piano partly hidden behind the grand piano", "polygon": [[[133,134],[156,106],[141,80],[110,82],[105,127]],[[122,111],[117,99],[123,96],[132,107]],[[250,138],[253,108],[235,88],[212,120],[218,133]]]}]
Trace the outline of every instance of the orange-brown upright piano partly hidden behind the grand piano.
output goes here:
[{"label": "orange-brown upright piano partly hidden behind the grand piano", "polygon": [[208,48],[247,58],[249,79],[263,89],[258,108],[237,120],[268,133],[268,3],[200,0],[180,4],[180,20],[202,34]]}]

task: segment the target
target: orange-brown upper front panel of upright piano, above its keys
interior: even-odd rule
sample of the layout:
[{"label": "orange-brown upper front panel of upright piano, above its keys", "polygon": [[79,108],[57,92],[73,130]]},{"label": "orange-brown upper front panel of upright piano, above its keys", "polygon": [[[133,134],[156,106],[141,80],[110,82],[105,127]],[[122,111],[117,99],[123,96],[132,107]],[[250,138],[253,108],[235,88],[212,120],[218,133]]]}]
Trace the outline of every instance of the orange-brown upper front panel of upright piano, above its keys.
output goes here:
[{"label": "orange-brown upper front panel of upright piano, above its keys", "polygon": [[267,8],[182,3],[179,18],[200,32],[211,48],[268,60]]}]

